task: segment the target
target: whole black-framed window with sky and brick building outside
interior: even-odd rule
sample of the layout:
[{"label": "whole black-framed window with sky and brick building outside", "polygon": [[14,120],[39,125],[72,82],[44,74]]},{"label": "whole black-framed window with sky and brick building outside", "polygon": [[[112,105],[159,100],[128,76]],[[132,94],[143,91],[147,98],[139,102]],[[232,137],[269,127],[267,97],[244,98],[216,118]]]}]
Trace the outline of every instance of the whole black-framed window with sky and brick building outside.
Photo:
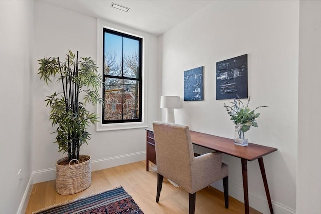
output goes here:
[{"label": "whole black-framed window with sky and brick building outside", "polygon": [[142,121],[142,43],[103,29],[103,124]]}]

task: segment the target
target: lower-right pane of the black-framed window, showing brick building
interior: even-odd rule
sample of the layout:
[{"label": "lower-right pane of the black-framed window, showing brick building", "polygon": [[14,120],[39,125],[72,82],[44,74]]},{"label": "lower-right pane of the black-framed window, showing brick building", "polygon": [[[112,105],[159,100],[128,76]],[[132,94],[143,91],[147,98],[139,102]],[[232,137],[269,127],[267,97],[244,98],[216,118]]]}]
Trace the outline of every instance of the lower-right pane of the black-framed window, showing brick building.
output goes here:
[{"label": "lower-right pane of the black-framed window, showing brick building", "polygon": [[124,119],[139,118],[139,81],[124,80]]}]

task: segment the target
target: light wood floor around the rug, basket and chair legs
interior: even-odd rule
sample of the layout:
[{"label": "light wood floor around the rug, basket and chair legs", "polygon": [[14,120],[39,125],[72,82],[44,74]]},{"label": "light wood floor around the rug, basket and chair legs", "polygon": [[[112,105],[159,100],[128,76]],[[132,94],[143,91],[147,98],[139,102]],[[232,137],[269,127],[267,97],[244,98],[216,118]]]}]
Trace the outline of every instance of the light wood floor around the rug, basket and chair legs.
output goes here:
[{"label": "light wood floor around the rug, basket and chair legs", "polygon": [[[57,194],[54,180],[37,183],[33,186],[26,214],[118,186],[132,196],[145,214],[188,213],[188,193],[174,187],[167,179],[163,180],[161,197],[156,203],[157,173],[151,168],[147,172],[146,161],[140,161],[92,172],[91,186],[73,195]],[[223,193],[212,187],[197,192],[195,206],[196,214],[244,213],[244,204],[232,197],[229,199],[229,208],[225,209]],[[250,208],[250,213],[260,212]]]}]

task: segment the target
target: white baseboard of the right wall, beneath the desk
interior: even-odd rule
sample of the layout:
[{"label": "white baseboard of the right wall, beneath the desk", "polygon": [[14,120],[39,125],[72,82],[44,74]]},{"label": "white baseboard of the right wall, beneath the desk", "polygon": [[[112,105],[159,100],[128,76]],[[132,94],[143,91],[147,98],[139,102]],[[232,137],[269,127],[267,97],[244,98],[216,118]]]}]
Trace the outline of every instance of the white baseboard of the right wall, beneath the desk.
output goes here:
[{"label": "white baseboard of the right wall, beneath the desk", "polygon": [[[223,192],[223,183],[222,181],[217,181],[211,184],[212,187]],[[238,186],[235,183],[229,181],[229,196],[241,201],[244,203],[244,193],[243,186]],[[266,197],[255,194],[249,191],[249,204],[250,207],[256,209],[262,213],[270,213],[269,205],[267,203]],[[286,207],[278,202],[272,200],[272,206],[274,213],[278,214],[296,214],[296,210],[293,210],[289,207]]]}]

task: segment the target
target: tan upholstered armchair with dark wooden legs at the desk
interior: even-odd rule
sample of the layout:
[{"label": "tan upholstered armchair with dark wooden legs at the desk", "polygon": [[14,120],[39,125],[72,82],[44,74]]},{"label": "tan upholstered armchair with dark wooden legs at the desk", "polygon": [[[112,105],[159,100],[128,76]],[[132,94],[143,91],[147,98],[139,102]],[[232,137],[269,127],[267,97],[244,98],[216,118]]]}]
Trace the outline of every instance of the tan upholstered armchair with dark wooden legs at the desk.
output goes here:
[{"label": "tan upholstered armchair with dark wooden legs at the desk", "polygon": [[223,178],[225,208],[228,208],[228,166],[222,163],[222,153],[194,157],[188,126],[153,122],[153,129],[158,174],[156,202],[166,177],[189,192],[189,213],[194,213],[196,192]]}]

